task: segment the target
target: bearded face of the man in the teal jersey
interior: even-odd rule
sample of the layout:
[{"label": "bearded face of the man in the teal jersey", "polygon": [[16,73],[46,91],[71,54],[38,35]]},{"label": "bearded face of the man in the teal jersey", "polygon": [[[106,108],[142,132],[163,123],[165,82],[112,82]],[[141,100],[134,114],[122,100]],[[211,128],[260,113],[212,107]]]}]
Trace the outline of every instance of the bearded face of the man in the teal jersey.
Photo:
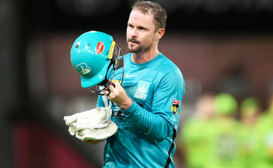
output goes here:
[{"label": "bearded face of the man in the teal jersey", "polygon": [[155,26],[151,14],[133,10],[127,25],[127,49],[132,53],[144,52],[155,43]]}]

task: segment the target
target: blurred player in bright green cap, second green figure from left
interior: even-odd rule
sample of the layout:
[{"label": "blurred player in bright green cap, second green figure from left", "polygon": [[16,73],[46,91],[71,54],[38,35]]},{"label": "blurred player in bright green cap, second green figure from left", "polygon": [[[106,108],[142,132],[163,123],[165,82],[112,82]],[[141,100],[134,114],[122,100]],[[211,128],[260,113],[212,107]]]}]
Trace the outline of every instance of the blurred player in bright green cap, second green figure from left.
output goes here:
[{"label": "blurred player in bright green cap, second green figure from left", "polygon": [[239,122],[234,115],[238,111],[237,100],[228,93],[215,96],[216,118],[212,121],[210,151],[205,167],[241,168],[242,158],[239,155]]}]

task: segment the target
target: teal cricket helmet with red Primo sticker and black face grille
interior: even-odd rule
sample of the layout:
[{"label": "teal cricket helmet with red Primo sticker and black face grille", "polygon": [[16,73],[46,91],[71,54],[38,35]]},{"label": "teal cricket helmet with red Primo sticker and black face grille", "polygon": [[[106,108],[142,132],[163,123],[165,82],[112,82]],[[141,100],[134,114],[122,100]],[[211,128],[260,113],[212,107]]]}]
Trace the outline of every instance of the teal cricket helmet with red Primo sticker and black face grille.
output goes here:
[{"label": "teal cricket helmet with red Primo sticker and black face grille", "polygon": [[[117,55],[118,49],[118,55]],[[70,59],[74,69],[81,75],[83,88],[95,94],[100,94],[107,86],[107,71],[113,65],[114,71],[123,68],[123,55],[121,49],[115,44],[112,36],[97,31],[90,31],[80,35],[73,43]],[[123,68],[124,70],[124,68]],[[119,82],[122,82],[123,71]],[[90,89],[97,85],[97,91]],[[99,89],[99,86],[105,86]]]}]

